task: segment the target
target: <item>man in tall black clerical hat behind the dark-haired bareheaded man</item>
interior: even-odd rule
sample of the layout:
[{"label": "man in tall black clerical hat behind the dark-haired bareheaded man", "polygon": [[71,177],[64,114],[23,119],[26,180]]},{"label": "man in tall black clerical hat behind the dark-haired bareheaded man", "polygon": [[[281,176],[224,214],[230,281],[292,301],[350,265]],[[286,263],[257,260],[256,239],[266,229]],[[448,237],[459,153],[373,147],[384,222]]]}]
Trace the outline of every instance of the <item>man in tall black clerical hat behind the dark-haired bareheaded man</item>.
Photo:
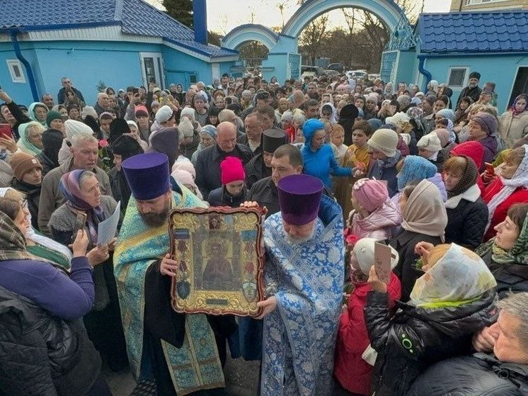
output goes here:
[{"label": "man in tall black clerical hat behind the dark-haired bareheaded man", "polygon": [[[249,116],[248,116],[249,117]],[[246,121],[248,118],[246,118]],[[247,128],[246,128],[247,130]],[[275,149],[286,144],[286,134],[282,130],[268,129],[260,136],[260,147],[262,150],[259,154],[251,159],[245,166],[246,187],[251,188],[254,183],[271,176],[271,161]]]}]

